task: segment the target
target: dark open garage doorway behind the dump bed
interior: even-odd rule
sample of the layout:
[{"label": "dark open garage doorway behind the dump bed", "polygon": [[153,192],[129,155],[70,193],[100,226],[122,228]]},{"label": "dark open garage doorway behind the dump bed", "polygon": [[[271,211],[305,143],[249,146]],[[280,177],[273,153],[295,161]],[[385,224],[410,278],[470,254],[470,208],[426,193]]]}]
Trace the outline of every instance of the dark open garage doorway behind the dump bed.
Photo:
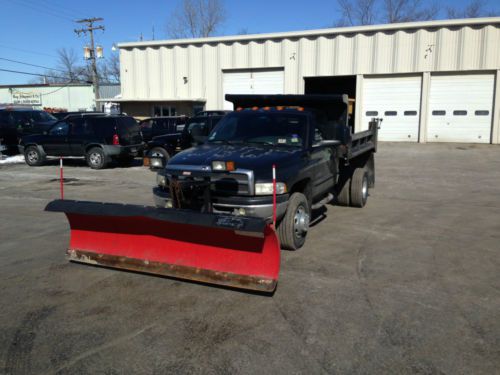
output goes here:
[{"label": "dark open garage doorway behind the dump bed", "polygon": [[349,96],[349,126],[354,131],[356,109],[356,76],[305,77],[305,94],[347,94]]}]

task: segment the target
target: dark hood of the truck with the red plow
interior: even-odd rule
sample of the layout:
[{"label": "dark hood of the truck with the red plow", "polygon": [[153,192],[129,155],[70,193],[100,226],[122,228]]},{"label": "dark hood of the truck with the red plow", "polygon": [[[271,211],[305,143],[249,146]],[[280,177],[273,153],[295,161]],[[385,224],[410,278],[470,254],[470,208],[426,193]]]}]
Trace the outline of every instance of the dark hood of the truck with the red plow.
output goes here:
[{"label": "dark hood of the truck with the red plow", "polygon": [[257,176],[270,177],[272,165],[283,170],[296,165],[303,150],[299,147],[203,144],[187,149],[169,160],[168,165],[206,165],[212,161],[234,161],[237,169],[253,170]]}]

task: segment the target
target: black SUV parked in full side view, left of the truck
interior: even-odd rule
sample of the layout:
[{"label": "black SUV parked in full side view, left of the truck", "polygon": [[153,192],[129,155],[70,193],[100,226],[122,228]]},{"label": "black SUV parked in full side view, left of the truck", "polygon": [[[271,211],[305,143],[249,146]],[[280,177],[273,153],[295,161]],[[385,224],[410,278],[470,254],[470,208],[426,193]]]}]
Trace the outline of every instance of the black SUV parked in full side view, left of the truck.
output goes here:
[{"label": "black SUV parked in full side view, left of the truck", "polygon": [[43,164],[47,156],[84,156],[93,169],[105,168],[112,160],[130,162],[142,148],[137,121],[120,115],[68,116],[19,144],[30,166]]}]

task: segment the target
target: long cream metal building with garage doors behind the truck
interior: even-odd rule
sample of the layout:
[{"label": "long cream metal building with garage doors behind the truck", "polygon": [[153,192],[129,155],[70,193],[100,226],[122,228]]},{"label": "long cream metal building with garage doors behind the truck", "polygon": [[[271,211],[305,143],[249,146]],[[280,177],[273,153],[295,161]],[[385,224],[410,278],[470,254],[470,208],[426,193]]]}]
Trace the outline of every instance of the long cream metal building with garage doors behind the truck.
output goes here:
[{"label": "long cream metal building with garage doors behind the truck", "polygon": [[224,95],[347,93],[380,139],[500,143],[500,18],[121,43],[122,110],[232,109]]}]

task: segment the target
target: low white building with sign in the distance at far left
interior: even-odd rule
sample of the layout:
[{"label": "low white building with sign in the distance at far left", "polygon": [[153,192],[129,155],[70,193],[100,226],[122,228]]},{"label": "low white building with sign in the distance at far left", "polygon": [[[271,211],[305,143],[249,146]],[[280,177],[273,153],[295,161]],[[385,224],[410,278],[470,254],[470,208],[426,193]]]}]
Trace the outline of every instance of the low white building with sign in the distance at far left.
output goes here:
[{"label": "low white building with sign in the distance at far left", "polygon": [[[114,98],[119,94],[119,84],[99,86],[101,98]],[[98,103],[98,110],[102,109],[104,102]],[[0,103],[29,105],[36,109],[95,110],[94,89],[88,84],[0,85]]]}]

